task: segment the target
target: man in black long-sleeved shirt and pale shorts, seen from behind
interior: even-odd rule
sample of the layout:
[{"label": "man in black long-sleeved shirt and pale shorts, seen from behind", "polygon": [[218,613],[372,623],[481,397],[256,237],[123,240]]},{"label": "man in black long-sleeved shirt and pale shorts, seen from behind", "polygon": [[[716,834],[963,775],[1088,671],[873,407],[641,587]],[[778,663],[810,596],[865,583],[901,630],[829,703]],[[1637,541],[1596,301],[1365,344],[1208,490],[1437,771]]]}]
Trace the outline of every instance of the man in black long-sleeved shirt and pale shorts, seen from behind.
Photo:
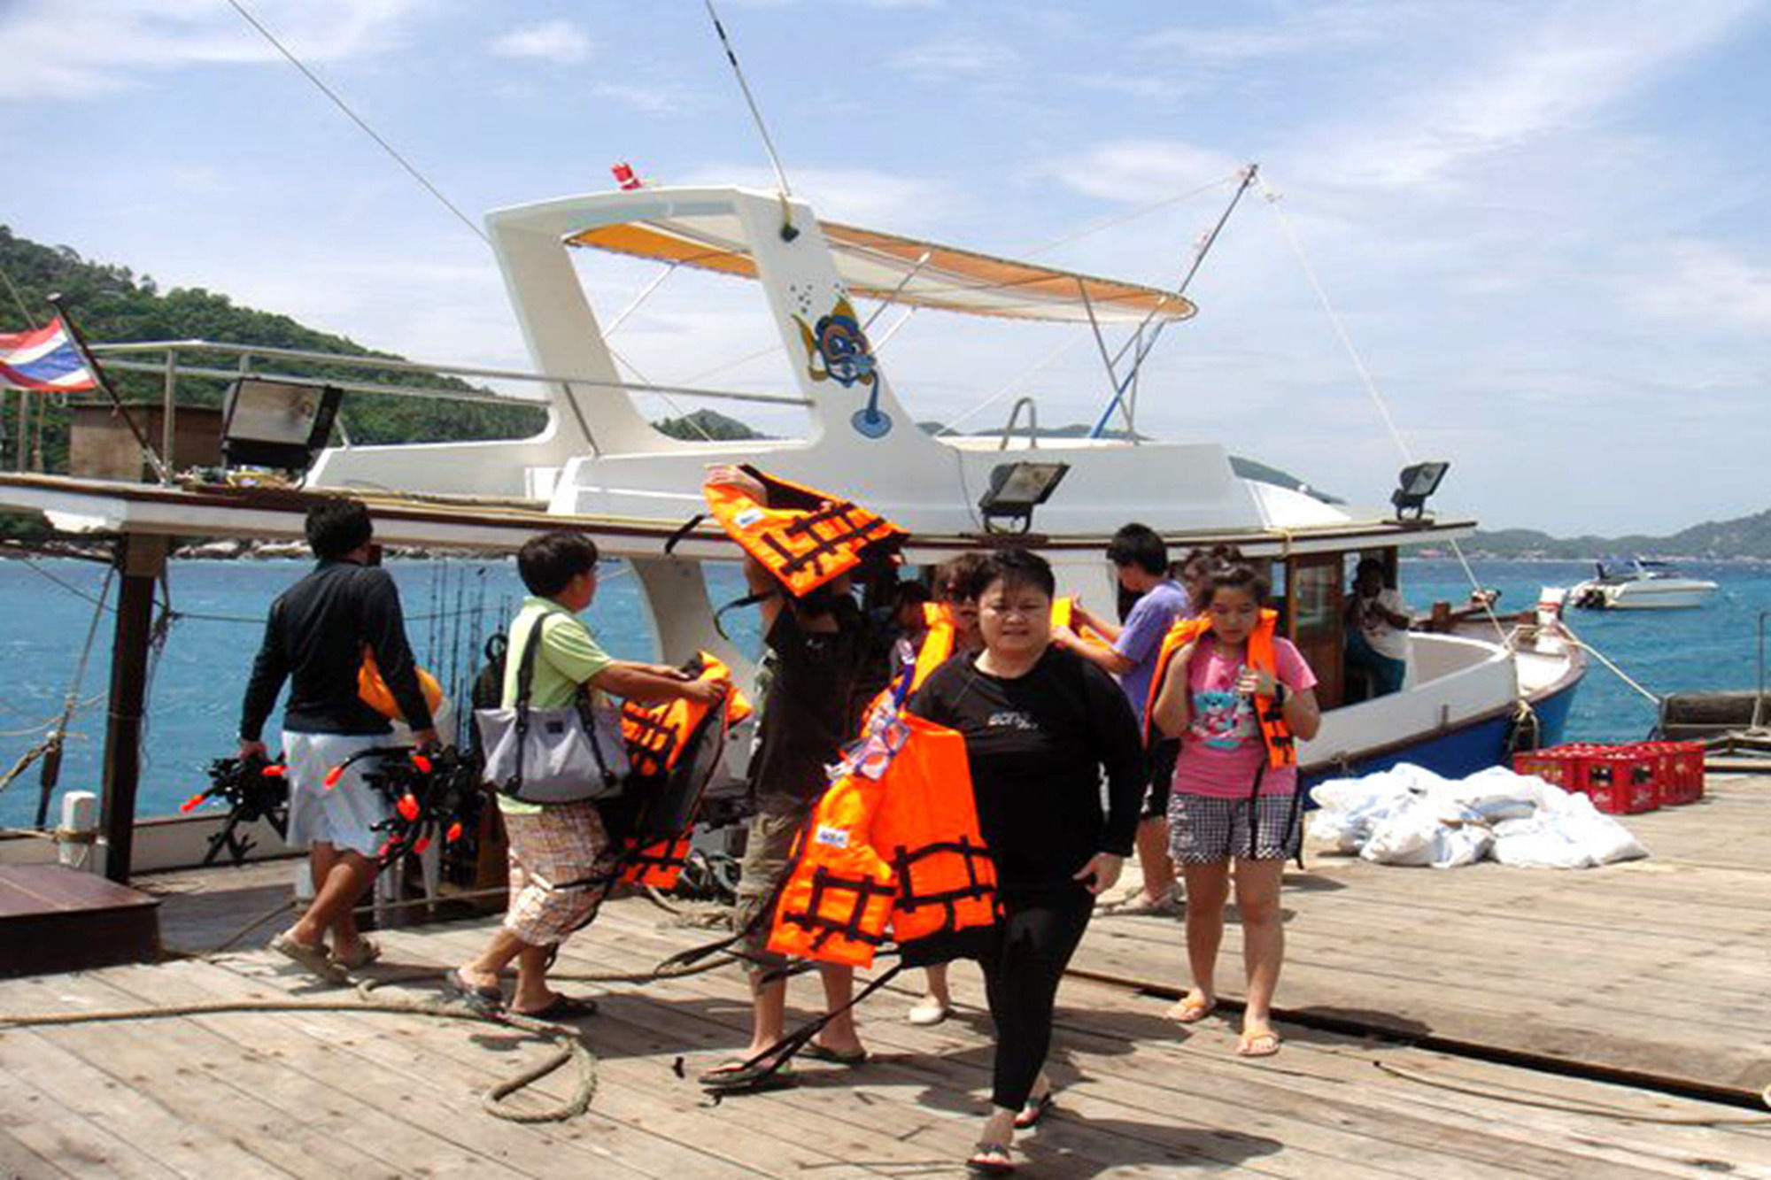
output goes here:
[{"label": "man in black long-sleeved shirt and pale shorts, seen from behind", "polygon": [[381,835],[374,824],[386,819],[386,803],[363,781],[361,762],[326,785],[335,765],[386,744],[393,730],[358,695],[365,648],[374,652],[418,744],[437,742],[406,641],[398,590],[386,571],[367,565],[370,532],[368,510],[354,500],[326,500],[308,510],[308,544],[319,565],[271,604],[239,721],[241,758],[266,757],[264,723],[283,680],[290,680],[283,709],[289,843],[310,850],[313,902],[271,946],[331,980],[377,955],[358,932],[352,909],[375,881]]}]

